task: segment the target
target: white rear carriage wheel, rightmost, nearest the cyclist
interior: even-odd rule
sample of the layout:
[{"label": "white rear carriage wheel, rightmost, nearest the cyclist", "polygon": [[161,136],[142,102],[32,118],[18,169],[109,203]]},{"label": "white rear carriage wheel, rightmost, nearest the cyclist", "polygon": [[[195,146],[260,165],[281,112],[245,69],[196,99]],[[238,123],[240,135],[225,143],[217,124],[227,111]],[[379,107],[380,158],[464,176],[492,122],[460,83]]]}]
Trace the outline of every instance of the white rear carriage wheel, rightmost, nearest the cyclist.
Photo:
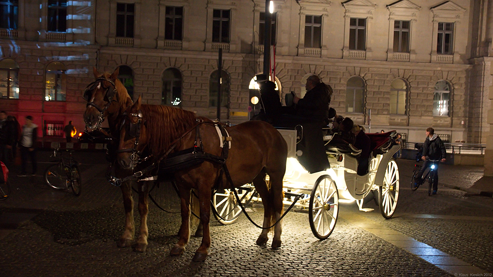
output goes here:
[{"label": "white rear carriage wheel, rightmost, nearest the cyclist", "polygon": [[390,218],[394,214],[397,199],[399,198],[399,168],[394,159],[387,164],[384,183],[379,189],[380,212],[385,218]]}]

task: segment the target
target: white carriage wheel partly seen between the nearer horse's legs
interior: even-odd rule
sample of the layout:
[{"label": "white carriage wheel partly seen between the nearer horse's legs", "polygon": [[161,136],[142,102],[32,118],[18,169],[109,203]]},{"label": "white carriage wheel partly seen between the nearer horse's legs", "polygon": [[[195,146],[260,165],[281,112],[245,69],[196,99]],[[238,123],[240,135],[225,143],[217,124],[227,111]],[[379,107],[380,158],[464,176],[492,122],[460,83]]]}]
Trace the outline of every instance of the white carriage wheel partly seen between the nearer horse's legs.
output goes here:
[{"label": "white carriage wheel partly seen between the nearer horse's legs", "polygon": [[[238,197],[241,199],[246,192],[246,190],[239,189],[237,191]],[[235,193],[230,189],[218,189],[212,194],[212,208],[215,210],[213,212],[214,217],[222,225],[234,223],[243,212],[238,205]]]}]

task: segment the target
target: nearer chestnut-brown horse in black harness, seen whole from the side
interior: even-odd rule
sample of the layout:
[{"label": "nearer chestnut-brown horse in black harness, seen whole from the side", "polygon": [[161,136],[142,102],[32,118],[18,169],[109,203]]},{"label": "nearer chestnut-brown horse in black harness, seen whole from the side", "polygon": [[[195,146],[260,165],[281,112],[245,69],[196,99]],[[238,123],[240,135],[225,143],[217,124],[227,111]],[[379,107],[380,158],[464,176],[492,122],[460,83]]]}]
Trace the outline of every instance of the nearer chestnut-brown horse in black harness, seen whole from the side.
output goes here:
[{"label": "nearer chestnut-brown horse in black harness, seen whole from the side", "polygon": [[[169,106],[141,105],[141,98],[127,109],[128,120],[121,128],[119,151],[133,149],[141,153],[147,149],[155,159],[167,152],[201,146],[206,153],[220,156],[219,137],[213,122],[207,118],[197,117],[193,112]],[[139,122],[140,120],[140,122]],[[134,125],[132,127],[131,125]],[[136,127],[138,134],[135,134]],[[197,132],[197,128],[199,129]],[[267,227],[280,219],[282,215],[282,178],[286,170],[287,143],[272,125],[263,121],[248,121],[225,128],[231,137],[231,149],[226,159],[226,166],[231,175],[233,186],[240,187],[253,181],[255,189],[264,205],[263,229],[256,243],[268,241]],[[134,130],[134,134],[132,133]],[[137,141],[136,138],[137,137]],[[197,143],[196,143],[197,141]],[[137,142],[137,143],[136,143]],[[198,145],[197,145],[198,144]],[[174,148],[173,148],[174,147]],[[227,147],[227,146],[226,146]],[[133,169],[135,157],[132,153],[120,152],[118,162],[124,169]],[[179,240],[171,250],[171,255],[180,255],[189,240],[189,199],[191,189],[199,194],[200,220],[204,230],[202,244],[195,252],[194,261],[206,259],[211,246],[209,230],[211,189],[231,188],[226,174],[222,174],[219,163],[205,161],[175,173],[181,199],[181,227]],[[269,174],[269,185],[265,181]],[[272,247],[281,246],[281,222],[274,227]]]}]

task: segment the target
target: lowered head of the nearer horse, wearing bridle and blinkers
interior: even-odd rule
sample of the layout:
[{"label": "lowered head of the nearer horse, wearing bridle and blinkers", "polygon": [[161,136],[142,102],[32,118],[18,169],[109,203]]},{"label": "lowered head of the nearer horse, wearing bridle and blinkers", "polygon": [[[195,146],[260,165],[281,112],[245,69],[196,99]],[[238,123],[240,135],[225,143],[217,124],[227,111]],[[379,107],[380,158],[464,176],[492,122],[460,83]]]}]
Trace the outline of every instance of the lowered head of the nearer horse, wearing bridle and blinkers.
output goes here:
[{"label": "lowered head of the nearer horse, wearing bridle and blinkers", "polygon": [[141,111],[141,96],[127,107],[120,126],[117,162],[125,170],[133,170],[147,145],[146,124]]}]

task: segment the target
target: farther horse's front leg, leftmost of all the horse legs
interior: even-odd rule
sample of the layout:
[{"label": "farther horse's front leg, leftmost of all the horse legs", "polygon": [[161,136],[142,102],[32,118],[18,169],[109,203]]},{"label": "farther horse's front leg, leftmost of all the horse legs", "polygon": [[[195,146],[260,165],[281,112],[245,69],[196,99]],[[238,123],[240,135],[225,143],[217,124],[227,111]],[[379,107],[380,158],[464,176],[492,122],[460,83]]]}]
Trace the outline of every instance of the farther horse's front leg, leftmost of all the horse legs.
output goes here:
[{"label": "farther horse's front leg, leftmost of all the horse legs", "polygon": [[123,207],[125,208],[125,231],[123,231],[117,246],[128,247],[131,245],[135,236],[134,199],[132,197],[131,181],[124,182],[120,186],[120,189],[122,190]]}]

